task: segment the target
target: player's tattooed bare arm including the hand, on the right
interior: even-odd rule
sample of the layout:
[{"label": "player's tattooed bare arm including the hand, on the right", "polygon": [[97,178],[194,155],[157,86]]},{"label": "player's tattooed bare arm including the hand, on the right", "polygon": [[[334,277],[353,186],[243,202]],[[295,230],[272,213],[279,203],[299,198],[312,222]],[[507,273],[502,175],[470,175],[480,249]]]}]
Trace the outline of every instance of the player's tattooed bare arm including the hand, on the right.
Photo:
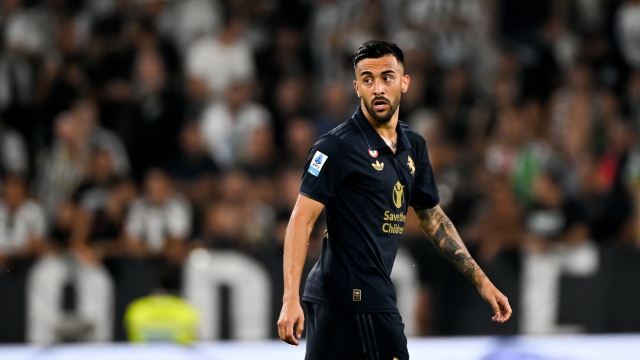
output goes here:
[{"label": "player's tattooed bare arm including the hand, on the right", "polygon": [[464,277],[478,288],[480,295],[494,310],[494,321],[505,322],[511,317],[511,306],[506,296],[489,281],[480,266],[469,254],[458,231],[438,205],[431,209],[416,210],[420,227],[442,255]]}]

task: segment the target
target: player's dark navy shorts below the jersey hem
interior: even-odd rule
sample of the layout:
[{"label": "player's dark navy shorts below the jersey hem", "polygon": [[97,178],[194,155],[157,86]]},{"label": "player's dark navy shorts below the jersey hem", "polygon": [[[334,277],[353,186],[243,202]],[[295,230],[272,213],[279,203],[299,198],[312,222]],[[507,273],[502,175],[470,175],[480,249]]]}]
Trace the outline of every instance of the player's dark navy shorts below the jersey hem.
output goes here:
[{"label": "player's dark navy shorts below the jersey hem", "polygon": [[408,360],[398,313],[354,313],[305,302],[305,360]]}]

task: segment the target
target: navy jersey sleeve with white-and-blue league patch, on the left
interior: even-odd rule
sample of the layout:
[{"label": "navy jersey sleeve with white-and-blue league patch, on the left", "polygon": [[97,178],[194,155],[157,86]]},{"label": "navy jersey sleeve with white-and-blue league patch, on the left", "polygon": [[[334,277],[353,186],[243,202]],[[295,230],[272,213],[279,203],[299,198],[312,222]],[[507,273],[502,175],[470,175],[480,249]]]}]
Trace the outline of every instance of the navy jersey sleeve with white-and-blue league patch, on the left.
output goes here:
[{"label": "navy jersey sleeve with white-and-blue league patch, on the left", "polygon": [[326,205],[349,172],[344,145],[333,135],[318,139],[304,167],[300,194]]}]

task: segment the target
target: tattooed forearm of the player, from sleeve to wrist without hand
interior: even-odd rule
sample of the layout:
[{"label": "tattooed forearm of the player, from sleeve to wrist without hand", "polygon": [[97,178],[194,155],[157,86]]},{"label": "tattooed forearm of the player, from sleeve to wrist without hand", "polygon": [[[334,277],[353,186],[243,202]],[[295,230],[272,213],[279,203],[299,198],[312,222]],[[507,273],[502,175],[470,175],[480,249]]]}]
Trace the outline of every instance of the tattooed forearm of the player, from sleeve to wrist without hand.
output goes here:
[{"label": "tattooed forearm of the player, from sleeve to wrist without hand", "polygon": [[469,281],[478,285],[484,273],[464,246],[453,223],[439,206],[417,212],[420,226],[431,242]]}]

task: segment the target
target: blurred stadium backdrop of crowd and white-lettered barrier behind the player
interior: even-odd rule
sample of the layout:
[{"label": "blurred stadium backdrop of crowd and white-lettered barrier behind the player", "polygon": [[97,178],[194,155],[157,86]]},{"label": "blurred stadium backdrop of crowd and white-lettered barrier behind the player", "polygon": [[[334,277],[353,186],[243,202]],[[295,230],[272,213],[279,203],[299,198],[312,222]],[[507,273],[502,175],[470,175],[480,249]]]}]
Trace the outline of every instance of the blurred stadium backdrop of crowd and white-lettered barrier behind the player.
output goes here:
[{"label": "blurred stadium backdrop of crowd and white-lettered barrier behind the player", "polygon": [[491,323],[409,214],[408,333],[640,331],[639,1],[0,7],[0,342],[125,341],[152,293],[201,305],[201,340],[276,338],[308,149],[355,111],[374,38],[405,51],[400,117],[515,311]]}]

